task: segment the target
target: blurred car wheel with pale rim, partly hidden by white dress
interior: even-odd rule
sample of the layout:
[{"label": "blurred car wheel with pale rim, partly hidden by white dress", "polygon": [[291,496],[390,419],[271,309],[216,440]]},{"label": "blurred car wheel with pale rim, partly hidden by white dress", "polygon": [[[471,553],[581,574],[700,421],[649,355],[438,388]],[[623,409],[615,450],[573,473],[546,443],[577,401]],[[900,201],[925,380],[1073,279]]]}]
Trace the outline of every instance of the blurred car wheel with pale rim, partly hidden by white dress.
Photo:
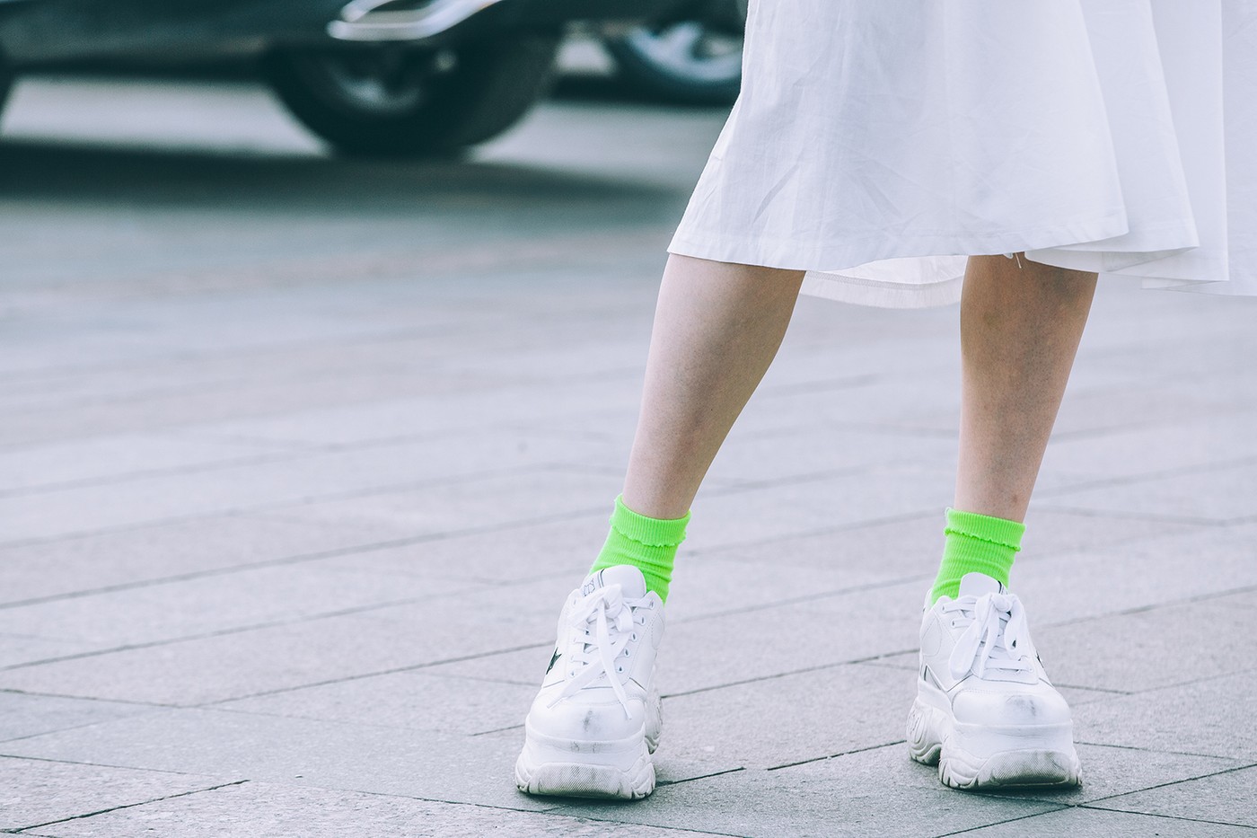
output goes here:
[{"label": "blurred car wheel with pale rim, partly hidden by white dress", "polygon": [[742,87],[747,0],[710,0],[693,20],[641,26],[606,42],[620,75],[670,102],[728,104]]}]

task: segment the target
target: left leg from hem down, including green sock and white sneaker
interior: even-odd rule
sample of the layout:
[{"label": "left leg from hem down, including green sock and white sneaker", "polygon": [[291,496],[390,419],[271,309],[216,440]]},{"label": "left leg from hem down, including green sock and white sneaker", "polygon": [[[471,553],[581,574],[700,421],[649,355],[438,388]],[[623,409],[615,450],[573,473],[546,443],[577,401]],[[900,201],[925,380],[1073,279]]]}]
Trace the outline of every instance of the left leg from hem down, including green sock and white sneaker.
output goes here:
[{"label": "left leg from hem down, including green sock and white sneaker", "polygon": [[672,557],[708,467],[781,346],[802,279],[667,260],[623,494],[597,573],[559,618],[515,763],[523,791],[634,799],[654,790],[652,681]]}]

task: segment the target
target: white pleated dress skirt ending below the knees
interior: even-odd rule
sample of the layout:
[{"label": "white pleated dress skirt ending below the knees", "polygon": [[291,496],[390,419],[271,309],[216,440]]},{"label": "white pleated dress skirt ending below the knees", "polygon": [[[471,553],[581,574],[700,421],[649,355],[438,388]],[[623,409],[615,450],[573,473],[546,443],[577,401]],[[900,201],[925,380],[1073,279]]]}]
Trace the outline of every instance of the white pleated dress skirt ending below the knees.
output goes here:
[{"label": "white pleated dress skirt ending below the knees", "polygon": [[1257,294],[1257,0],[753,0],[669,250],[959,298],[964,257]]}]

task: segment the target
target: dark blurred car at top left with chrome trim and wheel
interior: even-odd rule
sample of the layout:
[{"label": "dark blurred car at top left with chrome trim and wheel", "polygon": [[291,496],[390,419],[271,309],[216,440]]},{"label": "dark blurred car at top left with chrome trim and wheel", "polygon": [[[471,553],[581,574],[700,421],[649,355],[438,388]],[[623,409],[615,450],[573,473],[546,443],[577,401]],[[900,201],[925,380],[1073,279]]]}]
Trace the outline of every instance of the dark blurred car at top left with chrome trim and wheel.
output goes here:
[{"label": "dark blurred car at top left with chrome trim and wheel", "polygon": [[260,59],[336,148],[446,154],[513,125],[573,21],[662,19],[678,0],[0,0],[0,104],[25,70],[111,59]]}]

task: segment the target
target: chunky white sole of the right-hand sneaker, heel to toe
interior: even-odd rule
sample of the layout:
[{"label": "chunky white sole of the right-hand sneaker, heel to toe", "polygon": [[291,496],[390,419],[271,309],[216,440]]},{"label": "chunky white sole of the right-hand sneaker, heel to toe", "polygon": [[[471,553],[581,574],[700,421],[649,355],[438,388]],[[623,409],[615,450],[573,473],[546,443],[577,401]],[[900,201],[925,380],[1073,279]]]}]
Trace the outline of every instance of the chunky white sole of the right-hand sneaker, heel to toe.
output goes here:
[{"label": "chunky white sole of the right-hand sneaker, heel to toe", "polygon": [[908,713],[908,750],[918,763],[936,763],[939,780],[953,789],[1079,785],[1082,780],[1070,722],[962,725],[918,697]]}]

